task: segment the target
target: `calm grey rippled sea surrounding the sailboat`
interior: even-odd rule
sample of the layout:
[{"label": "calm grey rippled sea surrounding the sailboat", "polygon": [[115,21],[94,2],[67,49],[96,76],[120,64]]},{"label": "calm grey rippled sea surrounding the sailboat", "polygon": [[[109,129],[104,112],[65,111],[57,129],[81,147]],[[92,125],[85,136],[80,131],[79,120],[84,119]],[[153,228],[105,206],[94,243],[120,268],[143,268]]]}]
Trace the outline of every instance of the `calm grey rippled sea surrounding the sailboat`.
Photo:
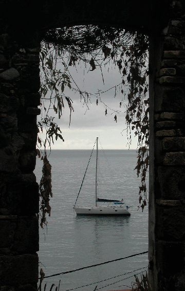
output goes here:
[{"label": "calm grey rippled sea surrounding the sailboat", "polygon": [[[40,268],[48,277],[42,282],[43,288],[47,284],[46,291],[52,284],[53,288],[60,284],[61,291],[127,289],[135,283],[134,275],[140,279],[141,272],[147,270],[147,253],[124,259],[148,249],[148,207],[143,212],[138,209],[140,178],[134,170],[137,152],[99,150],[98,196],[123,198],[125,205],[132,206],[131,216],[117,217],[77,216],[73,210],[75,203],[95,205],[96,150],[90,155],[91,150],[48,152],[53,197],[47,227],[40,228],[38,252]],[[37,157],[34,173],[38,183],[42,165]]]}]

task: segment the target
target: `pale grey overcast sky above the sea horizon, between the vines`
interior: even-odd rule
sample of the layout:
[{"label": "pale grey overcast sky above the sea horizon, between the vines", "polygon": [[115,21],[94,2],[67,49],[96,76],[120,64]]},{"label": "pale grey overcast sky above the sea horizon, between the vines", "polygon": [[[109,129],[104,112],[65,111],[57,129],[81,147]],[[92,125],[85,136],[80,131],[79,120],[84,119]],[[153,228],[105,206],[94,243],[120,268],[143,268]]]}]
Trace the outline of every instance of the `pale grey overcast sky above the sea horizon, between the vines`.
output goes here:
[{"label": "pale grey overcast sky above the sea horizon, between the vines", "polygon": [[[63,66],[58,63],[58,68]],[[110,87],[121,83],[122,78],[118,68],[113,65],[103,68],[102,80],[101,70],[96,68],[90,71],[90,65],[87,64],[85,69],[83,64],[76,67],[69,67],[70,74],[79,86],[81,91],[96,94],[98,90],[105,91]],[[75,87],[75,84],[71,84]],[[126,88],[125,88],[126,89]],[[71,114],[71,123],[69,127],[69,109],[65,102],[65,109],[63,115],[58,119],[57,115],[51,110],[49,115],[55,116],[54,121],[58,123],[62,131],[64,142],[60,139],[54,142],[52,149],[91,149],[94,145],[96,137],[99,137],[103,149],[128,149],[126,124],[125,124],[125,107],[124,102],[120,108],[119,104],[124,98],[124,95],[118,89],[115,96],[115,88],[108,90],[104,94],[100,94],[101,100],[107,105],[99,101],[96,105],[96,97],[91,96],[91,102],[88,102],[88,107],[83,104],[83,99],[80,99],[80,94],[73,92],[71,89],[65,88],[66,96],[70,97],[73,101],[73,108],[75,112]],[[125,103],[127,101],[125,100]],[[109,108],[112,110],[110,110]],[[107,108],[107,115],[105,110]],[[117,113],[117,122],[114,120],[115,111]],[[40,118],[40,117],[39,117]],[[132,139],[130,149],[137,148],[137,138]]]}]

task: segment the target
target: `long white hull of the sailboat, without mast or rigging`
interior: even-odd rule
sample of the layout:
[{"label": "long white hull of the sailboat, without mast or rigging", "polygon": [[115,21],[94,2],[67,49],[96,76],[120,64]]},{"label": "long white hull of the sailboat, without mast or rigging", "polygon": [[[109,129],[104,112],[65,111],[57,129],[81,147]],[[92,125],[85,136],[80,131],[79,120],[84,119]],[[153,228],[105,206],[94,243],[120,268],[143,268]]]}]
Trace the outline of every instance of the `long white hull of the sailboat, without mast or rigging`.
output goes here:
[{"label": "long white hull of the sailboat, without mast or rigging", "polygon": [[77,215],[131,215],[127,208],[118,207],[74,207]]}]

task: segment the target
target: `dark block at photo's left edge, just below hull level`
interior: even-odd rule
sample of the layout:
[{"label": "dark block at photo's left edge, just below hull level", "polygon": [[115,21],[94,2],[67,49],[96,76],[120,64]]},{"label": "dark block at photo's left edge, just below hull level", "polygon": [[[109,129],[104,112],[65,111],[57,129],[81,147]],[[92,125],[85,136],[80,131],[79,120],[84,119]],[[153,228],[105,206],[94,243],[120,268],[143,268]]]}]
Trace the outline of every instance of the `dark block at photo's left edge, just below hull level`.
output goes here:
[{"label": "dark block at photo's left edge, just below hull level", "polygon": [[16,220],[13,222],[0,219],[0,248],[8,248],[13,243]]}]

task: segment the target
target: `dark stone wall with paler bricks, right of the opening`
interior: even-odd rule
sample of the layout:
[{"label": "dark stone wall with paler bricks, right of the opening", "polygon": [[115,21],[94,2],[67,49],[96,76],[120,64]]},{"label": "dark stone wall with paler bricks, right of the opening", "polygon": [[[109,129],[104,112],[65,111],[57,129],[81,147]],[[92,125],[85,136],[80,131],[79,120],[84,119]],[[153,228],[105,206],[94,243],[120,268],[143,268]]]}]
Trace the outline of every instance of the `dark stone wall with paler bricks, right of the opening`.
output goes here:
[{"label": "dark stone wall with paler bricks, right of the opening", "polygon": [[180,2],[151,42],[149,272],[154,290],[185,289],[185,19]]}]

